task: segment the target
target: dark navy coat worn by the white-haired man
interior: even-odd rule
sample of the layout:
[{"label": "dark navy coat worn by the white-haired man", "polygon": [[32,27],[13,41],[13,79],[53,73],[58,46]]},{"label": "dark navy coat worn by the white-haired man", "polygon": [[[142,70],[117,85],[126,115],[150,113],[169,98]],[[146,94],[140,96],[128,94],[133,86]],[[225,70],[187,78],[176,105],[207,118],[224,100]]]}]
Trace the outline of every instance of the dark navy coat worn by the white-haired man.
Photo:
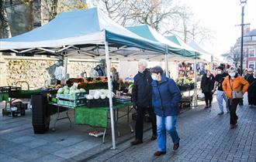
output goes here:
[{"label": "dark navy coat worn by the white-haired man", "polygon": [[134,76],[133,103],[140,107],[152,106],[152,78],[149,69]]}]

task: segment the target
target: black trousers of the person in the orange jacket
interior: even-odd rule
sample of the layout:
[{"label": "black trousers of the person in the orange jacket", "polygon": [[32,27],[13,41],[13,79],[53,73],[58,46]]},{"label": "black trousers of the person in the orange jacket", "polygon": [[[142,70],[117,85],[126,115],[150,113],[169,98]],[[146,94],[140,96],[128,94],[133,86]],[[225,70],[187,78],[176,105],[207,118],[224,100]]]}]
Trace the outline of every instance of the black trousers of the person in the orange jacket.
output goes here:
[{"label": "black trousers of the person in the orange jacket", "polygon": [[238,120],[237,116],[237,105],[240,102],[240,99],[229,99],[229,108],[230,108],[230,124],[236,124]]}]

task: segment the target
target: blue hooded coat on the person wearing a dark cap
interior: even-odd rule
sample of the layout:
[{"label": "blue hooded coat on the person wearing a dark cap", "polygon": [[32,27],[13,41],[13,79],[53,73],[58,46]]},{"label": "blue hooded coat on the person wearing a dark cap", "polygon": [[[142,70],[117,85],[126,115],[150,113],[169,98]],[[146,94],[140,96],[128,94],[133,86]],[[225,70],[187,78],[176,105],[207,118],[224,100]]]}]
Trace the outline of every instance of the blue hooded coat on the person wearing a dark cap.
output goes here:
[{"label": "blue hooded coat on the person wearing a dark cap", "polygon": [[173,79],[162,74],[161,83],[152,81],[152,104],[157,116],[178,115],[178,103],[182,98],[181,92]]}]

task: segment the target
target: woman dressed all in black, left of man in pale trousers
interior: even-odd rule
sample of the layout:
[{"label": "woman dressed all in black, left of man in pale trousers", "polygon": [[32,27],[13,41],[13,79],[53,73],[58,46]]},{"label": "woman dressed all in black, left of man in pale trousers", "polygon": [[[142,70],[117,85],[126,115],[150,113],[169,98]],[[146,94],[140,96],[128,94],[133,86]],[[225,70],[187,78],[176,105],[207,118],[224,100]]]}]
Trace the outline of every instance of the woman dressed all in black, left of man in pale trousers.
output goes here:
[{"label": "woman dressed all in black, left of man in pale trousers", "polygon": [[206,101],[205,109],[212,106],[213,87],[214,87],[213,74],[209,72],[209,69],[206,69],[206,73],[202,76],[202,80],[201,80],[201,89],[202,89],[202,93],[205,95],[205,101]]}]

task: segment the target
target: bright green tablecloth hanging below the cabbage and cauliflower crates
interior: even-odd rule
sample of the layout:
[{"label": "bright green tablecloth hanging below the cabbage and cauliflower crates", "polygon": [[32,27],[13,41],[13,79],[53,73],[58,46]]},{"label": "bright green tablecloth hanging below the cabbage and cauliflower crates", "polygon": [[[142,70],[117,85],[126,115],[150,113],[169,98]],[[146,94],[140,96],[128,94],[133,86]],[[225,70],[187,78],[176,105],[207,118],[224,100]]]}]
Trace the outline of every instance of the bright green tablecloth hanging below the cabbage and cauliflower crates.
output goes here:
[{"label": "bright green tablecloth hanging below the cabbage and cauliflower crates", "polygon": [[[113,109],[119,110],[131,105],[131,103],[119,103],[113,106]],[[109,107],[88,108],[87,106],[78,106],[75,107],[74,112],[75,123],[88,124],[92,127],[108,127]]]}]

